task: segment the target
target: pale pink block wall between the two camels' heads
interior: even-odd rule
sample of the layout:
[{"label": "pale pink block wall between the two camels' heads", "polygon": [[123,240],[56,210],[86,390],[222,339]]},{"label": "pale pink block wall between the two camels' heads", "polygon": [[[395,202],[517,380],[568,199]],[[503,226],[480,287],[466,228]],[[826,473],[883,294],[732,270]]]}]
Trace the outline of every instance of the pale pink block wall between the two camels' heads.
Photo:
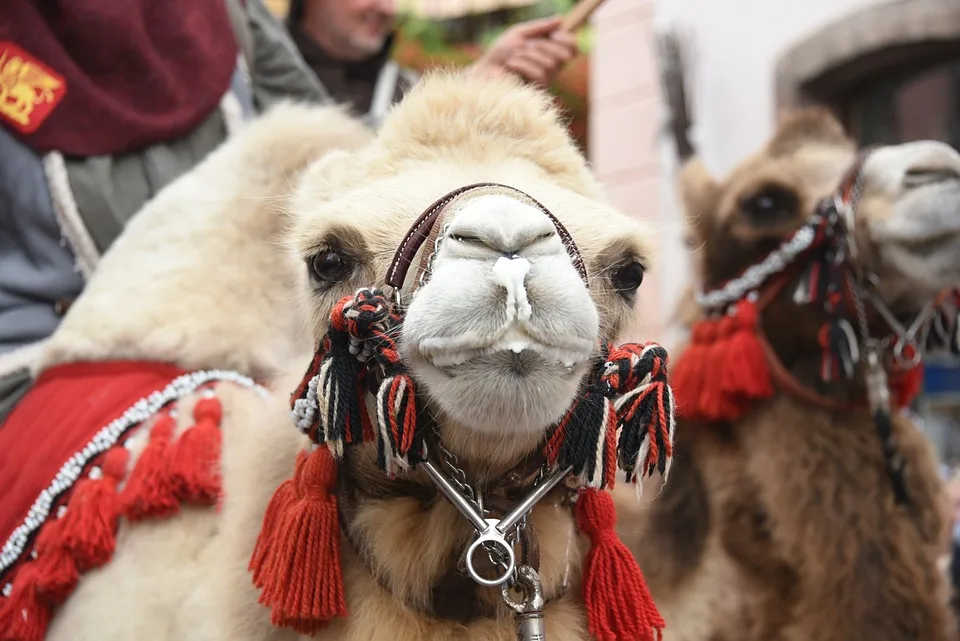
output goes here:
[{"label": "pale pink block wall between the two camels' heads", "polygon": [[[613,203],[663,227],[660,207],[659,78],[653,0],[607,0],[593,17],[590,59],[590,161]],[[662,278],[640,288],[640,319],[628,338],[661,340]]]}]

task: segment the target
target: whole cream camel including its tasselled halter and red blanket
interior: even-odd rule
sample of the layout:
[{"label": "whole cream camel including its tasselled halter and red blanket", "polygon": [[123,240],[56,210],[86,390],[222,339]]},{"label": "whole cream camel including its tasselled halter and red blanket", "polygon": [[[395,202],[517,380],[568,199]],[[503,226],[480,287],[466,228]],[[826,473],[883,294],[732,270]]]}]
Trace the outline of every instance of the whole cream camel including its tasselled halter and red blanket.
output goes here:
[{"label": "whole cream camel including its tasselled halter and red blanket", "polygon": [[[462,189],[477,183],[493,184]],[[267,114],[138,214],[0,430],[21,444],[5,459],[20,500],[51,470],[28,443],[107,425],[65,446],[77,454],[63,484],[43,478],[28,497],[39,508],[0,560],[0,628],[517,638],[501,591],[464,572],[476,534],[433,469],[488,519],[562,479],[503,535],[522,571],[504,573],[494,546],[471,557],[478,572],[515,576],[508,596],[542,608],[551,641],[652,638],[659,616],[612,501],[583,489],[609,485],[618,458],[635,474],[669,462],[665,354],[606,351],[634,313],[649,243],[605,202],[549,97],[510,78],[427,78],[369,141],[333,110]],[[385,281],[392,308],[358,292]],[[165,387],[179,370],[158,362],[188,378]],[[121,392],[144,400],[114,429],[102,405]],[[535,631],[531,612],[519,625]]]}]

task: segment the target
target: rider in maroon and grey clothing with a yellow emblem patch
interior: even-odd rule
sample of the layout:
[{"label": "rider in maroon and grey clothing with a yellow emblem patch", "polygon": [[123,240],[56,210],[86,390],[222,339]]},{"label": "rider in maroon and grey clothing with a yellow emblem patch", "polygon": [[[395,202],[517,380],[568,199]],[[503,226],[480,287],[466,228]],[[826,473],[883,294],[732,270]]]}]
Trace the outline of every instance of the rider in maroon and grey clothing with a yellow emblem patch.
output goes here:
[{"label": "rider in maroon and grey clothing with a yellow emblem patch", "polygon": [[284,97],[330,100],[262,0],[6,0],[0,425],[127,220]]}]

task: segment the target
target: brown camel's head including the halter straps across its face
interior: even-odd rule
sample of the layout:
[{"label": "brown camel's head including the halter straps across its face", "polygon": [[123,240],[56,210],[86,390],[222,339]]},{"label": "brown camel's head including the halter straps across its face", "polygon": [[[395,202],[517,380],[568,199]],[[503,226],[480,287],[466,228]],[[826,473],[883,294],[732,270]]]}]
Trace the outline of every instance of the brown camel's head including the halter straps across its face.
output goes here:
[{"label": "brown camel's head including the halter straps across its face", "polygon": [[[905,328],[960,284],[960,154],[946,144],[858,154],[828,112],[807,109],[725,180],[692,157],[679,183],[700,311],[736,317],[738,301],[755,303],[773,352],[788,369],[807,359],[799,375],[821,391],[855,379],[864,327],[922,347]],[[855,294],[866,307],[859,316]]]}]

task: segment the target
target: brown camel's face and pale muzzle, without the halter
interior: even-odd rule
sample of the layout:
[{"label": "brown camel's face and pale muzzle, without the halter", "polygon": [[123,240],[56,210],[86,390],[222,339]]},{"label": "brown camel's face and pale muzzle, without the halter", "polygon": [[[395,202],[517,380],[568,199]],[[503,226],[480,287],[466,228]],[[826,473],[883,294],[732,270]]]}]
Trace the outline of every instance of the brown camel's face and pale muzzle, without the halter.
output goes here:
[{"label": "brown camel's face and pale muzzle, without the halter", "polygon": [[[691,159],[680,191],[701,285],[712,288],[776,248],[837,189],[855,155],[839,123],[812,109],[785,120],[724,181]],[[880,147],[860,174],[857,259],[891,309],[915,314],[960,282],[960,154],[933,141]]]}]

